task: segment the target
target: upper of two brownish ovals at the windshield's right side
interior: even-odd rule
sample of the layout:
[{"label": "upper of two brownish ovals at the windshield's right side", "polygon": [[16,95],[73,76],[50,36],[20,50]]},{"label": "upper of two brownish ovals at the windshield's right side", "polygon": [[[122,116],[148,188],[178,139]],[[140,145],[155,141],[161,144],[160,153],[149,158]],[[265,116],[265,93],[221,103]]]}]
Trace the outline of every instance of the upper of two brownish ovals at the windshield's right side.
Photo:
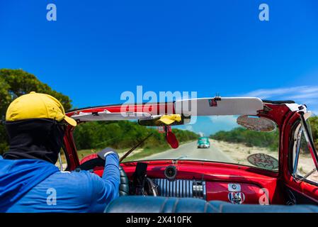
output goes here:
[{"label": "upper of two brownish ovals at the windshield's right side", "polygon": [[239,116],[237,123],[244,128],[258,132],[271,132],[276,129],[276,123],[274,121],[259,116]]}]

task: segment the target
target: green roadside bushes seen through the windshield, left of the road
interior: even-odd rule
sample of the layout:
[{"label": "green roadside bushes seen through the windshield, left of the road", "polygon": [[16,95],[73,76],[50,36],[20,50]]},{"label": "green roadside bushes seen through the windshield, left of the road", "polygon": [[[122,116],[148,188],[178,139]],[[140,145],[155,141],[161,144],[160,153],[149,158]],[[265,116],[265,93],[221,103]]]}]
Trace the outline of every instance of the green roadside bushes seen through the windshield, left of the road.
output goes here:
[{"label": "green roadside bushes seen through the windshield, left of the road", "polygon": [[[179,143],[196,140],[199,136],[186,130],[173,129],[172,131]],[[164,134],[159,133],[157,128],[140,126],[133,121],[94,121],[77,126],[74,130],[74,140],[80,154],[81,150],[98,151],[106,147],[114,148],[118,153],[122,153],[151,133],[152,135],[137,148],[141,148],[142,152],[127,157],[127,160],[132,160],[169,149]]]}]

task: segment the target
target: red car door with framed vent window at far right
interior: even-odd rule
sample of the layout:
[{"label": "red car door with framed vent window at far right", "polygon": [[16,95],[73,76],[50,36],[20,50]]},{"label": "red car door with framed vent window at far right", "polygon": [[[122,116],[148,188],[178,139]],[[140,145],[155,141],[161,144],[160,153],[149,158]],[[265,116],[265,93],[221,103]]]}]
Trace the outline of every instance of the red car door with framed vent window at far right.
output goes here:
[{"label": "red car door with framed vent window at far right", "polygon": [[305,120],[301,115],[290,138],[287,204],[318,204],[318,162],[313,141],[310,118]]}]

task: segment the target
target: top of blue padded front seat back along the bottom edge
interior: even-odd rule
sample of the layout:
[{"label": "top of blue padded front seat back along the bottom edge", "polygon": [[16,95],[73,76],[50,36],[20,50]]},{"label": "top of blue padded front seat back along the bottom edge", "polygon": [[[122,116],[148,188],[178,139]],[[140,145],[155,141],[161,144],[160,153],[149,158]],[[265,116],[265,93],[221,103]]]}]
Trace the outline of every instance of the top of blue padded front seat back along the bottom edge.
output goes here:
[{"label": "top of blue padded front seat back along the bottom edge", "polygon": [[120,196],[106,213],[318,213],[314,205],[230,204],[225,201],[161,196]]}]

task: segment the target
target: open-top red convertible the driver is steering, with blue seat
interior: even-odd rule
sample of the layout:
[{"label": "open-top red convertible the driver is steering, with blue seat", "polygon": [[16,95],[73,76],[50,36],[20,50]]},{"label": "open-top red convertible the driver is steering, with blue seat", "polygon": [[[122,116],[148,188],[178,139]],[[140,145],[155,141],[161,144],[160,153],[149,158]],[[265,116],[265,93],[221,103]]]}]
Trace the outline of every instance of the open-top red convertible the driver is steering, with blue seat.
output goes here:
[{"label": "open-top red convertible the driver is steering, with blue seat", "polygon": [[[171,145],[171,150],[129,162],[125,158],[135,148],[122,155],[120,197],[106,212],[318,211],[318,156],[305,105],[215,97],[96,106],[67,115],[78,123],[137,121],[140,127],[158,126]],[[198,152],[196,141],[179,145],[171,127],[188,126],[214,127],[211,147]],[[104,164],[96,155],[79,160],[73,131],[69,127],[64,137],[67,170],[101,176]],[[271,148],[218,139],[231,131],[269,140]]]}]

